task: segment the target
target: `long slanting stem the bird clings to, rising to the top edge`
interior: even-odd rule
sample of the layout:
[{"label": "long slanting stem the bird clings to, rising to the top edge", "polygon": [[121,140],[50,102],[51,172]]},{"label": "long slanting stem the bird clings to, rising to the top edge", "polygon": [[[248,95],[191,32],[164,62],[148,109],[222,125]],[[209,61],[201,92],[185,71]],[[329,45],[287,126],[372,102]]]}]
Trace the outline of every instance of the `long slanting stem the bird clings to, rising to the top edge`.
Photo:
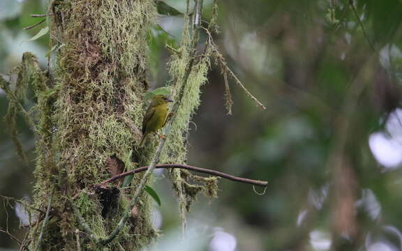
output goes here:
[{"label": "long slanting stem the bird clings to, rising to the top edge", "polygon": [[[191,54],[195,53],[195,47],[198,43],[198,38],[199,38],[199,33],[200,33],[200,18],[202,14],[202,0],[196,0],[195,2],[195,19],[193,20],[193,39],[191,41]],[[172,121],[174,121],[177,117],[177,110],[179,109],[179,106],[181,104],[181,99],[184,95],[184,88],[187,84],[188,77],[191,73],[191,68],[193,68],[193,62],[194,62],[194,57],[191,56],[191,60],[188,62],[188,65],[186,67],[186,71],[184,73],[184,76],[181,80],[181,91],[179,93],[179,98],[174,102],[173,108],[172,108],[172,114],[173,117],[167,122],[167,125],[165,126],[164,134],[166,136],[169,135],[171,126],[172,126]],[[112,231],[112,233],[107,236],[106,238],[101,239],[98,243],[101,245],[107,245],[107,243],[110,243],[113,241],[114,238],[119,234],[121,229],[123,229],[124,225],[126,225],[127,220],[131,217],[131,210],[134,208],[135,204],[137,203],[138,198],[140,195],[142,195],[142,192],[144,191],[144,186],[145,184],[149,181],[149,178],[151,175],[154,173],[154,169],[156,167],[156,164],[159,162],[159,158],[161,156],[161,152],[163,149],[163,146],[165,145],[166,142],[166,137],[162,137],[159,140],[158,148],[156,149],[155,157],[151,161],[151,164],[147,168],[147,172],[145,172],[144,176],[142,177],[141,181],[139,184],[137,184],[137,189],[134,192],[133,199],[131,199],[130,204],[127,206],[126,211],[123,213],[123,217],[121,217],[119,224],[117,227]]]}]

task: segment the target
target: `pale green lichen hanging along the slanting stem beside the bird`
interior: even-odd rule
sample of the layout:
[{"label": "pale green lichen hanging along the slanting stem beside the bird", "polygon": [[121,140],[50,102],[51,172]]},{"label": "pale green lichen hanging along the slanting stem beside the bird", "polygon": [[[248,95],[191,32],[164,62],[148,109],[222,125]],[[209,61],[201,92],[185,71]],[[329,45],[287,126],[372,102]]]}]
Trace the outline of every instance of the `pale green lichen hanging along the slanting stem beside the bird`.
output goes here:
[{"label": "pale green lichen hanging along the slanting stem beside the bird", "polygon": [[[185,26],[183,40],[179,49],[181,53],[172,56],[172,60],[169,63],[170,75],[173,79],[171,83],[173,96],[178,98],[179,91],[185,85],[181,105],[177,111],[177,119],[172,122],[170,135],[161,156],[161,162],[163,163],[186,163],[191,118],[200,105],[201,86],[207,82],[207,73],[210,68],[209,57],[211,56],[211,50],[208,45],[204,50],[204,54],[198,55],[196,59],[191,58],[193,48],[191,48],[192,40],[189,34],[188,26]],[[194,60],[193,66],[188,78],[186,78],[186,70],[188,70],[192,60]],[[204,178],[195,176],[185,170],[173,169],[170,172],[170,179],[172,180],[174,191],[177,193],[181,208],[181,220],[185,227],[186,211],[189,210],[198,192],[204,191],[206,195],[216,197],[217,178]],[[197,181],[198,184],[192,184],[192,181]],[[212,183],[213,185],[211,185]]]}]

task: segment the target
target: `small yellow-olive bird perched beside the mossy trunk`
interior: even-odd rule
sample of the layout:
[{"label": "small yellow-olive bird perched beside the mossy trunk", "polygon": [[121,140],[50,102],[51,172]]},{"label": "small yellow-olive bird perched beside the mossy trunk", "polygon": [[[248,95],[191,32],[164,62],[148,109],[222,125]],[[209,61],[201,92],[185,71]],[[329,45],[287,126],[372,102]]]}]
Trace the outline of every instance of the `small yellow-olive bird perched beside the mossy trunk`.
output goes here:
[{"label": "small yellow-olive bird perched beside the mossy trunk", "polygon": [[144,145],[145,137],[150,132],[156,132],[163,128],[168,117],[168,102],[173,102],[165,95],[156,95],[152,97],[151,103],[142,120],[142,137],[140,147]]}]

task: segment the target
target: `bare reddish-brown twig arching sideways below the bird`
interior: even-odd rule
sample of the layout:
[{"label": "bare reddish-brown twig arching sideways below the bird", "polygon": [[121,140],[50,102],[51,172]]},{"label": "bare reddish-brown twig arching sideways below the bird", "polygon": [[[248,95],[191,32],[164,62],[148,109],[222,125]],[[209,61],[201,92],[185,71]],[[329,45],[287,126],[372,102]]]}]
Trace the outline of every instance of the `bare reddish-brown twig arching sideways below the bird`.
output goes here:
[{"label": "bare reddish-brown twig arching sideways below the bird", "polygon": [[[213,176],[226,178],[230,181],[237,181],[240,183],[248,183],[248,184],[252,184],[252,185],[258,185],[261,187],[266,187],[268,185],[268,181],[257,181],[257,180],[253,180],[253,179],[249,179],[249,178],[241,178],[241,177],[233,176],[230,174],[225,174],[223,172],[218,172],[215,170],[201,168],[201,167],[193,167],[193,166],[189,166],[189,165],[163,164],[163,165],[156,165],[155,168],[156,169],[174,169],[174,168],[187,169],[187,170],[194,171],[194,172],[200,172],[202,174],[211,174]],[[113,181],[119,180],[119,179],[124,178],[125,176],[131,175],[131,174],[145,172],[145,171],[147,171],[147,169],[148,169],[148,167],[138,167],[131,171],[117,174],[116,176],[113,176],[112,178],[108,178],[107,180],[103,181],[99,185],[105,185],[106,183],[111,183]]]}]

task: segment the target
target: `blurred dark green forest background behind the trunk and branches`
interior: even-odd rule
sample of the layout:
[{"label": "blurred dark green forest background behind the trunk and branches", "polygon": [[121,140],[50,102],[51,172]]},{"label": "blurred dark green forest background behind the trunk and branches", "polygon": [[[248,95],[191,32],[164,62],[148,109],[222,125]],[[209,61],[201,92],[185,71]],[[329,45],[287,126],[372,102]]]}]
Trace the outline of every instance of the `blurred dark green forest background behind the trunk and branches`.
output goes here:
[{"label": "blurred dark green forest background behind the trunk and branches", "polygon": [[[183,0],[165,3],[185,10]],[[22,30],[40,21],[29,14],[45,13],[45,5],[0,1],[0,73],[17,66],[27,50],[46,66],[48,38],[20,44],[47,25]],[[208,21],[211,1],[205,1],[204,9],[202,19]],[[402,2],[231,0],[219,1],[218,11],[221,33],[214,40],[267,110],[255,107],[230,81],[234,105],[233,115],[227,116],[225,83],[220,69],[212,66],[189,136],[188,164],[267,180],[269,186],[259,196],[250,185],[221,180],[219,199],[200,198],[191,207],[188,239],[193,234],[200,240],[188,245],[192,250],[234,250],[233,240],[222,237],[228,233],[237,250],[399,250],[402,158],[396,160],[402,155],[402,123],[389,126],[389,118],[402,115]],[[165,63],[174,52],[165,44],[174,50],[183,24],[179,16],[161,15],[158,22],[149,40],[152,87],[168,81]],[[206,38],[203,34],[200,51]],[[34,101],[27,100],[27,106]],[[0,104],[4,116],[2,93]],[[27,167],[15,154],[7,125],[0,123],[0,128],[0,195],[21,198],[31,192],[33,135],[18,121],[31,157]],[[382,135],[384,144],[373,140],[374,133]],[[376,160],[375,154],[394,158],[396,164]],[[160,248],[188,250],[170,242],[180,226],[169,187],[157,178],[166,234]],[[10,229],[17,231],[12,208],[5,208]],[[0,213],[0,227],[6,222],[7,215]],[[227,249],[216,249],[218,236]],[[15,247],[6,235],[0,234],[0,240],[0,248]]]}]

